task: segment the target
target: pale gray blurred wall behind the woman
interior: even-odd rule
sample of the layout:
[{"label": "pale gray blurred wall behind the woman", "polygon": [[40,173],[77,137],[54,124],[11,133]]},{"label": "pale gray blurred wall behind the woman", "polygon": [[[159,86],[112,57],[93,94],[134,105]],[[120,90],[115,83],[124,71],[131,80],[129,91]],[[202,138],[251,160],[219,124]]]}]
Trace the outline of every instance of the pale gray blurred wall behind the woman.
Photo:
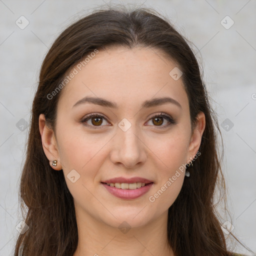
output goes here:
[{"label": "pale gray blurred wall behind the woman", "polygon": [[[28,133],[25,124],[41,62],[70,22],[100,4],[104,1],[0,0],[0,255],[13,253],[15,226],[22,220],[17,191]],[[224,122],[220,129],[229,221],[240,241],[256,251],[256,1],[146,0],[144,6],[168,16],[193,42],[194,51],[200,50],[196,56],[203,65],[211,103],[219,124]],[[21,15],[29,21],[24,29],[15,24]],[[234,21],[229,29],[221,24],[226,15]],[[231,24],[225,20],[225,26]],[[252,255],[238,244],[230,246]]]}]

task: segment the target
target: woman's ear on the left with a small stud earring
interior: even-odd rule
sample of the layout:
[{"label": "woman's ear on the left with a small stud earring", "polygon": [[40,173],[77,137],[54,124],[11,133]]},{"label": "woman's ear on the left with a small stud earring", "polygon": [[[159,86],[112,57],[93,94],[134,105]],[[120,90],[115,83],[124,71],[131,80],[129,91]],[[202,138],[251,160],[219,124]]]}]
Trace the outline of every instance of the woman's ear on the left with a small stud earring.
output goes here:
[{"label": "woman's ear on the left with a small stud earring", "polygon": [[[49,160],[51,168],[54,170],[61,170],[62,166],[60,163],[54,131],[46,125],[44,114],[39,115],[39,131],[41,135],[42,148]],[[57,166],[52,165],[53,160],[57,160]]]}]

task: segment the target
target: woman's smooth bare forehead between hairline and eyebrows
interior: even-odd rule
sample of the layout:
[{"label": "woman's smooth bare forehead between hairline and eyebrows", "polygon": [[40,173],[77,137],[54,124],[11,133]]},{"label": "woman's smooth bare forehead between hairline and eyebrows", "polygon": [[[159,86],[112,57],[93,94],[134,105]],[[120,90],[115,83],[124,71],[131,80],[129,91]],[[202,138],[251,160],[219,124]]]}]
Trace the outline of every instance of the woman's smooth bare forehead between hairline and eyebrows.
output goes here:
[{"label": "woman's smooth bare forehead between hairline and eyebrows", "polygon": [[114,101],[117,107],[132,107],[152,97],[170,96],[188,106],[181,78],[174,80],[169,74],[177,65],[158,49],[108,47],[88,53],[85,60],[71,69],[75,75],[61,89],[59,104],[71,107],[89,95]]}]

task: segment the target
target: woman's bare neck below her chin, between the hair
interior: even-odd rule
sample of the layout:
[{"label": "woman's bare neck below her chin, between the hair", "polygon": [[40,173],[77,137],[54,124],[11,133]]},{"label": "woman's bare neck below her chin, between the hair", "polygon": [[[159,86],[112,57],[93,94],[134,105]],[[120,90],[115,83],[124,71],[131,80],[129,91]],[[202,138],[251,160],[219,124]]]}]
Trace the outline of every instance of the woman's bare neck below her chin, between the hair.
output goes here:
[{"label": "woman's bare neck below her chin, between the hair", "polygon": [[131,228],[125,223],[124,228],[116,228],[84,214],[76,212],[78,244],[73,256],[174,256],[167,242],[167,211]]}]

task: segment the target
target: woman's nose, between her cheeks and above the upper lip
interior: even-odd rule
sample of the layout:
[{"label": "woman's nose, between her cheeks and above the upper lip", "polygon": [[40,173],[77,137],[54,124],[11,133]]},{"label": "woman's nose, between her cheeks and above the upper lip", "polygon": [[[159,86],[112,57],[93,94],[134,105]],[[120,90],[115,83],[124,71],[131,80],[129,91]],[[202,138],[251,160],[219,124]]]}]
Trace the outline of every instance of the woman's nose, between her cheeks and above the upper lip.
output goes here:
[{"label": "woman's nose, between her cheeks and above the upper lip", "polygon": [[110,160],[114,164],[134,168],[145,162],[146,149],[142,136],[136,131],[135,125],[131,125],[126,131],[117,128],[117,133],[111,142]]}]

